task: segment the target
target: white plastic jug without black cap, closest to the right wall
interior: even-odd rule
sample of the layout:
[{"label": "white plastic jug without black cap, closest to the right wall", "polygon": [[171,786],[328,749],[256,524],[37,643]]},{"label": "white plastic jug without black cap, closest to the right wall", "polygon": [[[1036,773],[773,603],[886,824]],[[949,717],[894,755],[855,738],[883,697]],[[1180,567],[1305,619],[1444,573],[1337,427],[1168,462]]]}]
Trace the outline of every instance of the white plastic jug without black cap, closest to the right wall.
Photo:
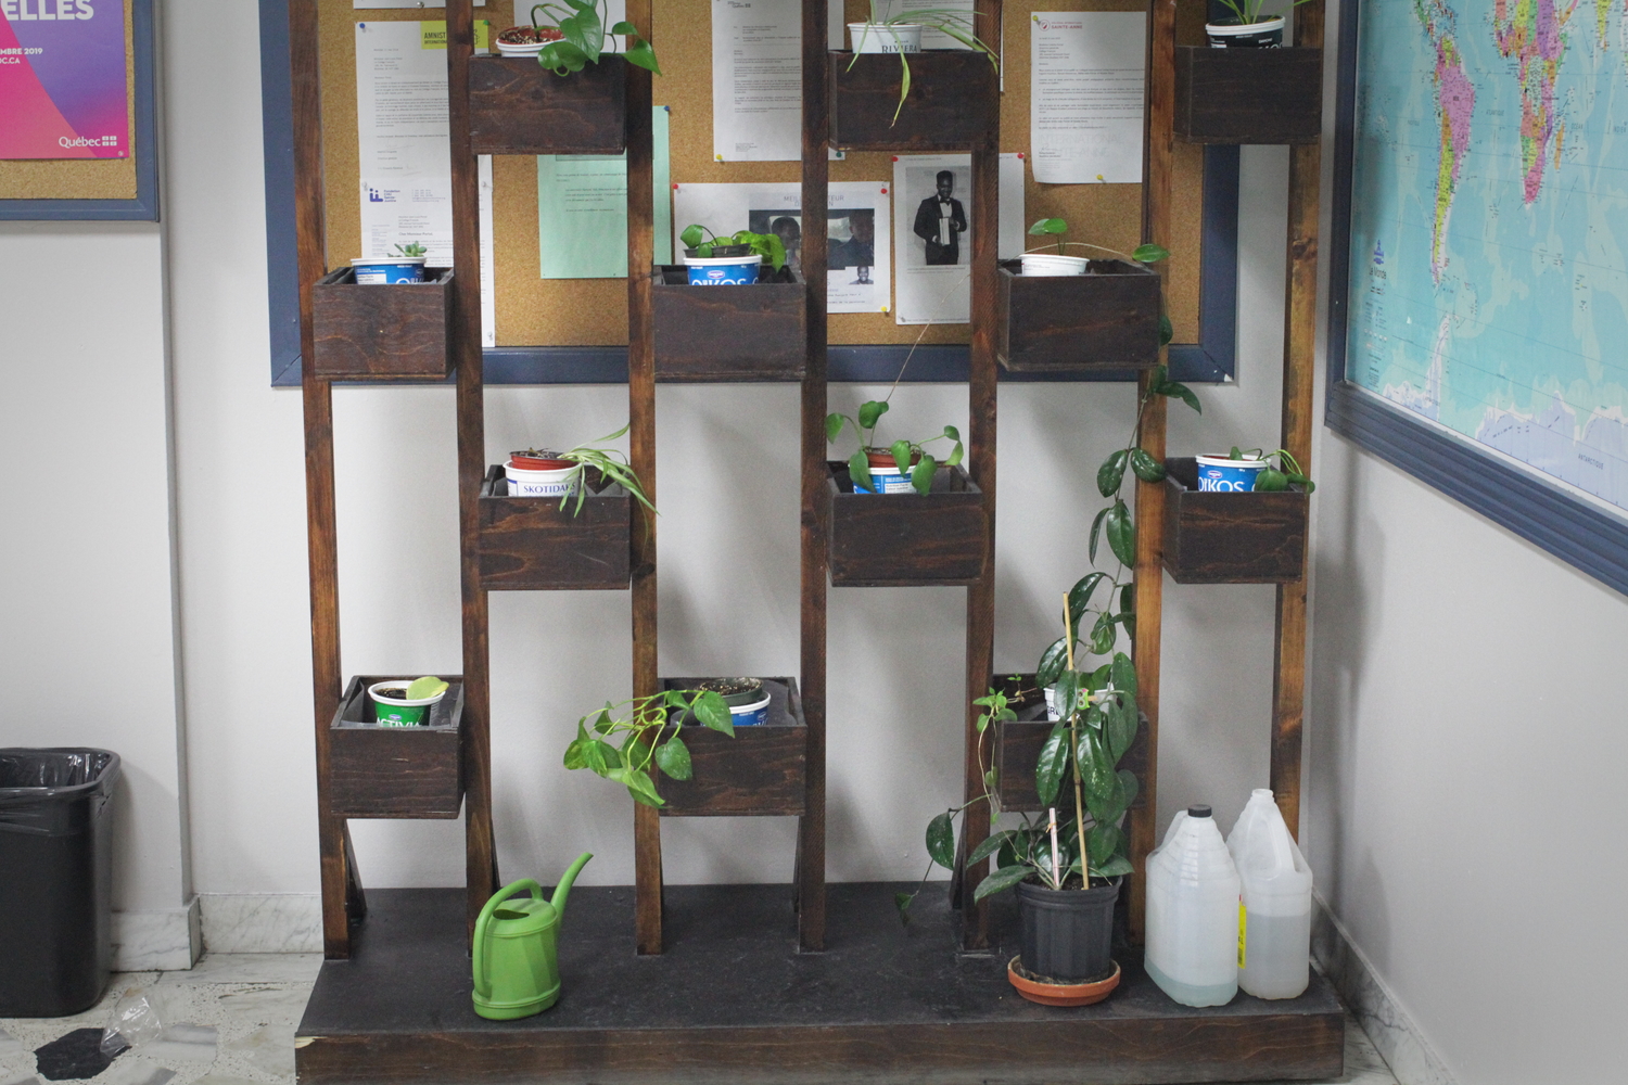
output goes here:
[{"label": "white plastic jug without black cap, closest to the right wall", "polygon": [[1257,787],[1226,838],[1244,883],[1237,986],[1257,999],[1294,999],[1311,983],[1312,870],[1271,792]]}]

